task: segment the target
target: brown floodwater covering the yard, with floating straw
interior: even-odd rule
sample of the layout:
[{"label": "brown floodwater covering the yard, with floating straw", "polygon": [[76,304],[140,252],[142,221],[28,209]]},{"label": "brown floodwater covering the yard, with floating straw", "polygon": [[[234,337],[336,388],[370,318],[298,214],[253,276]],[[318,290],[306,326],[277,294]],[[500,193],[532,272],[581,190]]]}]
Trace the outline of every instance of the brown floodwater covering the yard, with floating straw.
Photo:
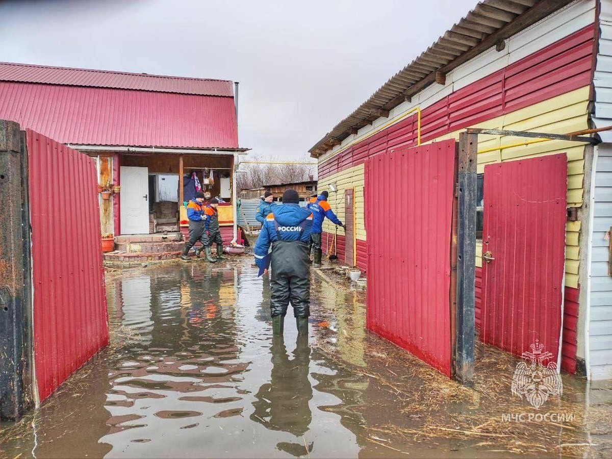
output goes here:
[{"label": "brown floodwater covering the yard, with floating straw", "polygon": [[[0,457],[607,457],[612,388],[564,376],[534,410],[516,360],[477,349],[474,389],[365,331],[365,295],[313,275],[310,335],[272,337],[250,259],[107,278],[113,344],[18,424]],[[504,414],[573,414],[569,422]],[[554,418],[554,420],[558,420]],[[550,421],[550,419],[549,419]]]}]

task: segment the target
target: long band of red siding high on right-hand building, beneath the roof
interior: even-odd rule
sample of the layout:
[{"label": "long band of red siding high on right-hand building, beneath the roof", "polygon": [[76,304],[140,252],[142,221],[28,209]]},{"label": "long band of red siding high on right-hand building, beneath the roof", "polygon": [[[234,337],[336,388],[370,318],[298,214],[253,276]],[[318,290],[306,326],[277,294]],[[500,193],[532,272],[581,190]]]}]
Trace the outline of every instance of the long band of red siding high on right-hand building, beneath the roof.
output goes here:
[{"label": "long band of red siding high on right-hand building, beneath the roof", "polygon": [[[588,86],[593,43],[594,26],[591,24],[499,72],[446,95],[422,110],[421,141],[433,140]],[[550,71],[543,74],[542,69]],[[416,135],[416,116],[390,125],[319,164],[319,181],[389,148],[413,146]]]}]

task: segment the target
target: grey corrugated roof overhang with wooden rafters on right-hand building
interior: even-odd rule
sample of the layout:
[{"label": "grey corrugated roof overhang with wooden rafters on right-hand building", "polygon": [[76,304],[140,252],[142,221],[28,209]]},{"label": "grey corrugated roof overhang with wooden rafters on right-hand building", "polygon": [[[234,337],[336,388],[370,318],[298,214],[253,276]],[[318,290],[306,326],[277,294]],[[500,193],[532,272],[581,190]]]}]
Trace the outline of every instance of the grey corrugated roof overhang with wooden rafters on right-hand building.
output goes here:
[{"label": "grey corrugated roof overhang with wooden rafters on right-hand building", "polygon": [[573,0],[483,0],[424,53],[383,84],[370,99],[335,125],[308,152],[325,154],[346,137],[389,116],[389,111],[431,84],[444,84],[446,74],[491,47],[562,9]]}]

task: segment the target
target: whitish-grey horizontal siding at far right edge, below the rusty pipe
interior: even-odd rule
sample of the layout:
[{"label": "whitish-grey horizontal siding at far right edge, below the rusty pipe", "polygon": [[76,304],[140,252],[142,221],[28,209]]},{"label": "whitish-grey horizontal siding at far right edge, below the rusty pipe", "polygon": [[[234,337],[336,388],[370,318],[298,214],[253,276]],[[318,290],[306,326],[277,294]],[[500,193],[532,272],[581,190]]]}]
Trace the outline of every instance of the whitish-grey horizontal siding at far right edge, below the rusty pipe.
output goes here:
[{"label": "whitish-grey horizontal siding at far right edge, below the rusty pipe", "polygon": [[[612,101],[611,101],[612,102]],[[612,120],[610,120],[612,121]],[[612,124],[612,122],[610,123]],[[595,204],[591,247],[591,319],[589,321],[589,360],[593,379],[612,378],[612,277],[610,240],[612,230],[612,145],[597,147],[595,165]]]}]

